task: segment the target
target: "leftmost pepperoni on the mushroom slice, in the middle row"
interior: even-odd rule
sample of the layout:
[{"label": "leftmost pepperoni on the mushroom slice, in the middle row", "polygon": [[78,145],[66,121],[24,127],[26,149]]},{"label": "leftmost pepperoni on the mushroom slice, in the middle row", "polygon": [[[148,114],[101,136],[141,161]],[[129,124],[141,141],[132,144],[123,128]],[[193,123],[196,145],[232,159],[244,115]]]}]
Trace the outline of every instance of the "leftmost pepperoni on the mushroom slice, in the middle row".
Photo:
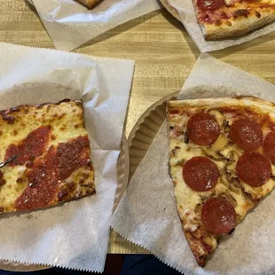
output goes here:
[{"label": "leftmost pepperoni on the mushroom slice, in the middle row", "polygon": [[216,164],[206,157],[193,157],[185,162],[183,177],[186,185],[195,191],[208,191],[214,187],[219,177]]}]

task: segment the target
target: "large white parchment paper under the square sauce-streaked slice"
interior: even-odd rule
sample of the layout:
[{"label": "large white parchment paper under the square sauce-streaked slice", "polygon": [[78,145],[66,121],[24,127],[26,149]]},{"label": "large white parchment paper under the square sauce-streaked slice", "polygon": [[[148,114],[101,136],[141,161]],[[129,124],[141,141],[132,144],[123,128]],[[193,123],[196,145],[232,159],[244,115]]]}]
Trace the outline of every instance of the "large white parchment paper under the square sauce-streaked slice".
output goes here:
[{"label": "large white parchment paper under the square sauce-streaked slice", "polygon": [[[134,62],[0,43],[0,109],[83,99],[97,194],[0,217],[0,259],[103,271]],[[3,161],[3,160],[1,160]]]}]

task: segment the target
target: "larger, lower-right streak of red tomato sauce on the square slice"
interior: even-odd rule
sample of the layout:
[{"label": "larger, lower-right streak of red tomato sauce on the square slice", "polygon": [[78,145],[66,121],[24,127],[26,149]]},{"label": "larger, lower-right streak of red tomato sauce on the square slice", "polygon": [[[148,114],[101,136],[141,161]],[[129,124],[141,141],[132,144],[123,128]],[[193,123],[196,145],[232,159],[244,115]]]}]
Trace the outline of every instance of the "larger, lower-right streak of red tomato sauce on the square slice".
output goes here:
[{"label": "larger, lower-right streak of red tomato sauce on the square slice", "polygon": [[60,181],[76,169],[90,163],[90,147],[87,136],[75,138],[49,151],[34,162],[27,172],[29,185],[16,200],[19,210],[43,208],[57,196]]}]

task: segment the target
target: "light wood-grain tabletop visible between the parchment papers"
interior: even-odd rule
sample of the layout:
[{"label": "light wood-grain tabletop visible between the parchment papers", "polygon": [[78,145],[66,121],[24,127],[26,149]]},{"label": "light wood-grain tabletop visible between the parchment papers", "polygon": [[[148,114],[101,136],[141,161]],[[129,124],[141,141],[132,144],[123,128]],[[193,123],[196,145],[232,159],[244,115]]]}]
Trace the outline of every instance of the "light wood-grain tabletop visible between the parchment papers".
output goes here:
[{"label": "light wood-grain tabletop visible between the parchment papers", "polygon": [[[0,41],[54,48],[37,14],[24,0],[0,0]],[[127,135],[149,106],[181,89],[200,55],[182,24],[165,10],[115,27],[75,52],[136,60]],[[212,55],[275,84],[275,32]],[[111,232],[108,251],[145,253],[115,232]]]}]

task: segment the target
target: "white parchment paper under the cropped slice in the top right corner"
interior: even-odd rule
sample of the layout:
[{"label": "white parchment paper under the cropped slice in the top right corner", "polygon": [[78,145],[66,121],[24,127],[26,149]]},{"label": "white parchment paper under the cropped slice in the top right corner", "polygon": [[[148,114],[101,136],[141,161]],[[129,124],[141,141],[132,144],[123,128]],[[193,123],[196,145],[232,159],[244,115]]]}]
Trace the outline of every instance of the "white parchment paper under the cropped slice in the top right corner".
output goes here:
[{"label": "white parchment paper under the cropped slice in the top right corner", "polygon": [[259,36],[267,35],[275,30],[275,22],[273,22],[265,27],[255,30],[252,33],[242,35],[237,38],[219,41],[206,41],[203,37],[196,13],[194,11],[193,0],[168,0],[168,2],[171,6],[177,9],[185,29],[193,38],[194,43],[196,43],[201,52],[218,51],[231,46],[236,46],[240,43],[253,40]]}]

